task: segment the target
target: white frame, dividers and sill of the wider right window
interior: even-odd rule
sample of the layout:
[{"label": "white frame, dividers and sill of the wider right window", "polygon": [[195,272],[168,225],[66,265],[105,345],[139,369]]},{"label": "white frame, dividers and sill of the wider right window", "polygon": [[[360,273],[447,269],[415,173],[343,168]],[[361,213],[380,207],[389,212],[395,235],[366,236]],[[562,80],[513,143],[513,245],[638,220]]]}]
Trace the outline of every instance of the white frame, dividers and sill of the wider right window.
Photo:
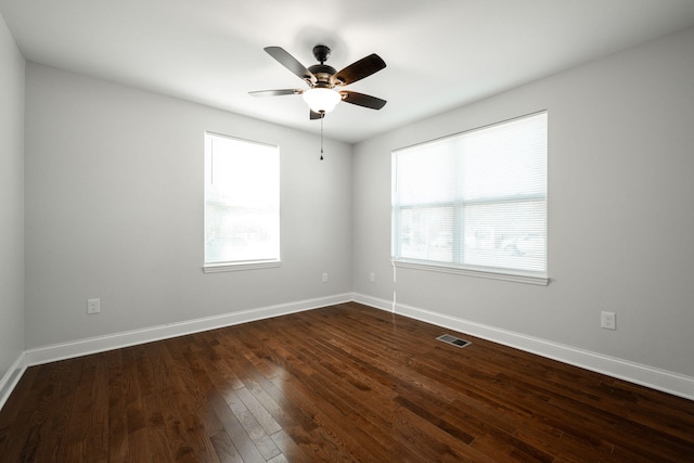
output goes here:
[{"label": "white frame, dividers and sill of the wider right window", "polygon": [[[514,123],[514,121],[518,121],[520,119],[525,119],[525,118],[529,118],[529,117],[534,117],[534,116],[539,116],[539,115],[547,115],[548,119],[547,119],[547,126],[545,126],[545,130],[549,132],[549,113],[548,111],[543,110],[543,111],[538,111],[535,113],[530,113],[530,114],[525,114],[523,116],[518,116],[518,117],[513,117],[510,119],[505,119],[505,120],[501,120],[499,123],[494,123],[494,124],[490,124],[490,125],[486,125],[483,127],[477,127],[471,130],[465,130],[462,132],[458,132],[458,133],[453,133],[450,136],[446,136],[446,137],[441,137],[441,138],[437,138],[437,139],[433,139],[433,140],[427,140],[425,142],[421,142],[421,143],[416,143],[413,145],[409,145],[409,146],[404,146],[404,147],[400,147],[398,150],[394,150],[391,152],[391,230],[390,230],[390,242],[391,242],[391,262],[393,266],[395,268],[403,268],[403,269],[415,269],[415,270],[424,270],[424,271],[434,271],[434,272],[442,272],[442,273],[451,273],[451,274],[462,274],[462,275],[467,275],[467,276],[478,276],[478,278],[487,278],[487,279],[493,279],[493,280],[503,280],[503,281],[512,281],[512,282],[517,282],[517,283],[528,283],[528,284],[536,284],[536,285],[548,285],[550,282],[550,278],[549,278],[549,192],[548,192],[548,187],[549,187],[549,182],[548,182],[548,175],[549,175],[549,169],[548,169],[548,165],[549,165],[549,133],[547,133],[547,138],[545,138],[545,158],[544,158],[544,194],[526,194],[526,195],[507,195],[505,202],[503,201],[502,196],[493,196],[493,197],[486,197],[486,198],[473,198],[473,200],[464,200],[462,197],[458,197],[459,195],[457,194],[455,198],[449,200],[449,201],[432,201],[428,203],[428,205],[430,206],[435,206],[435,207],[442,207],[448,205],[449,207],[451,207],[453,209],[453,219],[452,221],[455,223],[453,226],[453,230],[454,230],[454,236],[452,239],[453,244],[452,244],[452,259],[450,262],[448,261],[439,261],[439,260],[432,260],[432,259],[426,259],[426,258],[415,258],[415,257],[402,257],[401,256],[401,252],[400,248],[398,247],[399,245],[402,244],[402,237],[401,237],[401,232],[402,232],[402,222],[401,222],[401,218],[402,218],[402,214],[401,211],[407,209],[408,207],[411,209],[417,209],[417,208],[424,208],[427,206],[427,203],[421,203],[421,204],[416,204],[416,205],[402,205],[402,204],[398,204],[396,201],[397,197],[397,191],[396,188],[398,185],[397,181],[397,156],[399,153],[406,151],[406,150],[410,150],[416,146],[424,146],[426,144],[433,144],[436,142],[440,142],[444,140],[448,140],[448,139],[454,139],[454,138],[463,138],[467,134],[471,134],[473,132],[477,132],[480,130],[485,130],[485,129],[489,129],[492,127],[498,127],[498,126],[502,126],[504,124],[509,124],[509,123]],[[460,171],[458,171],[457,173],[452,173],[452,176],[455,175],[460,175]],[[543,201],[544,202],[544,271],[529,271],[529,270],[522,270],[522,269],[510,269],[510,268],[504,268],[504,267],[487,267],[487,266],[477,266],[477,265],[473,265],[473,263],[464,263],[464,258],[463,256],[463,250],[461,250],[462,247],[464,247],[464,241],[461,237],[461,235],[465,234],[465,228],[464,226],[461,226],[462,223],[462,215],[464,214],[462,210],[470,205],[480,205],[480,204],[503,204],[503,203],[511,203],[511,202],[517,202],[519,200],[523,200],[525,202],[530,202],[530,201]],[[424,206],[424,207],[423,207]],[[397,239],[397,240],[396,240]]]}]

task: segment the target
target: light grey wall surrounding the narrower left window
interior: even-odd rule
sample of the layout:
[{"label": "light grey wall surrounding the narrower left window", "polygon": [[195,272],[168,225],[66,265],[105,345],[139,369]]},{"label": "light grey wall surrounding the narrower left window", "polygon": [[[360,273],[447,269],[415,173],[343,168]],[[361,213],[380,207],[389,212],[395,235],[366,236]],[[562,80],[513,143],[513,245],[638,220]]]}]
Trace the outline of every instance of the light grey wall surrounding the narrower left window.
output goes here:
[{"label": "light grey wall surrounding the narrower left window", "polygon": [[[202,272],[205,130],[280,145],[280,268]],[[350,146],[319,151],[311,134],[29,63],[27,348],[351,291]]]}]

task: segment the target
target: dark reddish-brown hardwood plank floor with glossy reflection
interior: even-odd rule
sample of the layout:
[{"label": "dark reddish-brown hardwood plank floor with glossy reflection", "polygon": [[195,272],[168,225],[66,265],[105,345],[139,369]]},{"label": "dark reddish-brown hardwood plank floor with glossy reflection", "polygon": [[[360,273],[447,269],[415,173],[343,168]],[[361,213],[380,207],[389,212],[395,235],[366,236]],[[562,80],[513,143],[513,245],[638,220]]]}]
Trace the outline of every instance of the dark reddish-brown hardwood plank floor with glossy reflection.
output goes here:
[{"label": "dark reddish-brown hardwood plank floor with glossy reflection", "polygon": [[694,462],[694,402],[352,303],[29,368],[0,461]]}]

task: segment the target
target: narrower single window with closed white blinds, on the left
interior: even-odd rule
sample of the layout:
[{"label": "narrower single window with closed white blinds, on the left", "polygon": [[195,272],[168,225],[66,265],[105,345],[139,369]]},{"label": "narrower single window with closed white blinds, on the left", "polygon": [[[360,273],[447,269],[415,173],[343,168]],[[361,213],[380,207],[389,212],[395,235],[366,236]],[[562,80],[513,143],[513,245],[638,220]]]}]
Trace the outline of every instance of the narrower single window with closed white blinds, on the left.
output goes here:
[{"label": "narrower single window with closed white blinds, on the left", "polygon": [[205,133],[205,271],[279,261],[279,147]]}]

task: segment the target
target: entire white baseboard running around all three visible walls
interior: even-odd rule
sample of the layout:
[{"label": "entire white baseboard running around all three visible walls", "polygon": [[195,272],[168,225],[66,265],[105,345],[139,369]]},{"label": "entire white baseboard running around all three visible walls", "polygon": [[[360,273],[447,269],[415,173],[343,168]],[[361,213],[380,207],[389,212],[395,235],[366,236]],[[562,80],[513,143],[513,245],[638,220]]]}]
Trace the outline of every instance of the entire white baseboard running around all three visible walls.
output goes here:
[{"label": "entire white baseboard running around all three visible walls", "polygon": [[396,313],[404,317],[467,333],[472,336],[694,400],[694,377],[444,316],[416,307],[402,304],[394,305],[391,300],[363,294],[346,293],[28,349],[22,352],[8,373],[0,380],[0,409],[4,406],[26,368],[30,365],[317,309],[350,300],[389,312],[394,311],[395,308]]}]

